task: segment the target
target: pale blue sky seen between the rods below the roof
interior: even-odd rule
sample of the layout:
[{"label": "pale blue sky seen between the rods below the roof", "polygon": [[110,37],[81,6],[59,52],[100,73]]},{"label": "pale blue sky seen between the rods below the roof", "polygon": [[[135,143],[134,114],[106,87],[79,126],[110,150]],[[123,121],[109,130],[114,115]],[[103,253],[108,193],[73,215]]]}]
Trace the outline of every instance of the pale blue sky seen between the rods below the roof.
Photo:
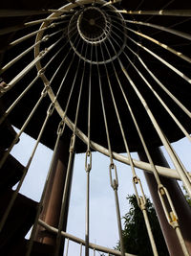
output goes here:
[{"label": "pale blue sky seen between the rods below the roof", "polygon": [[[23,165],[26,165],[32,152],[34,142],[35,141],[30,136],[23,134],[20,142],[13,148],[11,154]],[[185,164],[187,170],[191,170],[188,140],[182,139],[180,142],[174,143],[173,146],[180,155],[180,159]],[[21,187],[21,194],[39,201],[52,154],[53,151],[41,144],[39,145],[32,160],[29,173]],[[132,156],[138,159],[137,153],[133,153]],[[108,157],[98,152],[93,152],[92,158],[93,163],[90,175],[90,242],[113,248],[118,241],[118,232],[114,190],[110,186],[109,179],[110,160]],[[168,157],[167,159],[169,160]],[[122,217],[129,209],[126,197],[127,195],[134,194],[134,188],[130,168],[117,161],[116,165],[119,183],[118,198],[120,215]],[[171,163],[170,165],[172,166]],[[137,170],[137,173],[142,181],[145,195],[150,197],[143,172]],[[81,239],[85,237],[85,202],[85,154],[82,153],[75,154],[74,177],[67,226],[68,233]],[[80,246],[78,244],[70,242],[68,255],[74,255],[74,253],[76,254],[79,250]],[[91,253],[90,255],[93,255],[93,252]],[[96,253],[96,255],[99,254]]]}]

